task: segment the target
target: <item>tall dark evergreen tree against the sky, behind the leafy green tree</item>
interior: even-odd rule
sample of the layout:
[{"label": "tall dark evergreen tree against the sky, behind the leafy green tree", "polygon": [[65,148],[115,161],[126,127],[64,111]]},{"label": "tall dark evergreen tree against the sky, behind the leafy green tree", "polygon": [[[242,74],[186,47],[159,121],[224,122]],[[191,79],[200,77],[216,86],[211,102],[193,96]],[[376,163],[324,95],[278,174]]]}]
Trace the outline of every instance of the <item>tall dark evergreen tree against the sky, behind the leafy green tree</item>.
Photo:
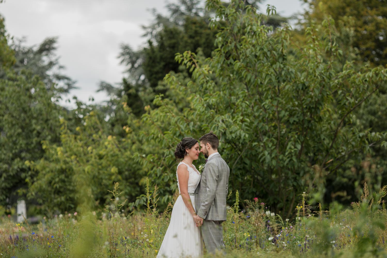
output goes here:
[{"label": "tall dark evergreen tree against the sky, behind the leafy green tree", "polygon": [[[258,7],[259,2],[245,1],[244,5]],[[228,3],[222,5],[227,6]],[[205,57],[209,57],[216,48],[216,31],[208,26],[213,11],[205,9],[203,1],[179,0],[166,7],[168,16],[158,14],[153,9],[154,22],[143,26],[144,36],[148,38],[145,48],[135,51],[128,44],[122,44],[119,58],[121,64],[127,67],[123,82],[118,86],[107,82],[100,84],[99,91],[107,91],[112,99],[120,98],[124,89],[127,92],[127,103],[138,117],[144,113],[145,106],[152,105],[155,94],[167,94],[168,85],[160,83],[164,76],[171,71],[180,72],[174,60],[175,53],[201,51]],[[264,22],[276,28],[285,21],[283,17],[271,15]],[[126,89],[127,85],[130,85],[130,90]],[[113,113],[115,105],[110,104],[109,111]]]}]

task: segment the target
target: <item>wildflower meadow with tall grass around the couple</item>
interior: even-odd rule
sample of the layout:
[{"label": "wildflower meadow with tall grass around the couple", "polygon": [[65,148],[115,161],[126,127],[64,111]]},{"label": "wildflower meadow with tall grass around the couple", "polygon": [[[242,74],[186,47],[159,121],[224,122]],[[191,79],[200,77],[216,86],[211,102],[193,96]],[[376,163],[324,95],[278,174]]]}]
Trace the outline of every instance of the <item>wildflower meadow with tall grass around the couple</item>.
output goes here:
[{"label": "wildflower meadow with tall grass around the couple", "polygon": [[[171,203],[157,210],[157,186],[146,190],[146,212],[121,213],[118,184],[105,212],[59,214],[40,224],[0,220],[0,257],[155,257],[169,224]],[[311,212],[308,194],[301,194],[294,219],[272,213],[258,198],[235,204],[223,223],[227,255],[206,257],[387,257],[387,210],[379,193],[365,184],[359,202],[343,209],[317,206]],[[175,199],[178,194],[175,194]]]}]

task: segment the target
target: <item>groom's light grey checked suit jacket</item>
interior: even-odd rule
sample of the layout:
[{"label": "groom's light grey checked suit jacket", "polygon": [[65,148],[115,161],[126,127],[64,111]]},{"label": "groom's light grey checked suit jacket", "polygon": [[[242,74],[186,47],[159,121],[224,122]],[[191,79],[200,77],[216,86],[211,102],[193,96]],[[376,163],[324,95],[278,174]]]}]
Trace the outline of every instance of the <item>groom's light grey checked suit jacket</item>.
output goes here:
[{"label": "groom's light grey checked suit jacket", "polygon": [[207,160],[195,190],[196,214],[205,220],[226,220],[230,169],[220,154]]}]

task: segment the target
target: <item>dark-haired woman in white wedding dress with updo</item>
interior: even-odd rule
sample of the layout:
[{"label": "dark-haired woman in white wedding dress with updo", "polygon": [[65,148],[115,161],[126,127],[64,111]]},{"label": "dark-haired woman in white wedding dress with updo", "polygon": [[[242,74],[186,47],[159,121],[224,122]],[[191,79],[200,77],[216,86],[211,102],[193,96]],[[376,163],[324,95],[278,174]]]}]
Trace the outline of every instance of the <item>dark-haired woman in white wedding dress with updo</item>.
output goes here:
[{"label": "dark-haired woman in white wedding dress with updo", "polygon": [[191,137],[183,138],[176,147],[175,157],[182,160],[176,169],[180,195],[173,205],[171,221],[158,251],[158,258],[194,258],[203,255],[202,236],[193,218],[196,214],[194,192],[200,173],[192,161],[199,158],[199,153],[199,143]]}]

